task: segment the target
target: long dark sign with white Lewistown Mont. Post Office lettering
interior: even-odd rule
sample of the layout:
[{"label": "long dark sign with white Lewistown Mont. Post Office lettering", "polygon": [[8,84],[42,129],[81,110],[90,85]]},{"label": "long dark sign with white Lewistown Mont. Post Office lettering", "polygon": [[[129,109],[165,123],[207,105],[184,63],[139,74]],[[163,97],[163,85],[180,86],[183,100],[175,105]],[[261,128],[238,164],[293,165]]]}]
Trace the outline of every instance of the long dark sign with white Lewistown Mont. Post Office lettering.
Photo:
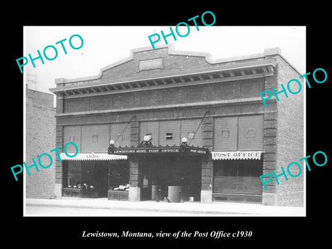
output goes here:
[{"label": "long dark sign with white Lewistown Mont. Post Office lettering", "polygon": [[114,148],[113,154],[123,155],[207,155],[208,149],[199,147],[124,147]]}]

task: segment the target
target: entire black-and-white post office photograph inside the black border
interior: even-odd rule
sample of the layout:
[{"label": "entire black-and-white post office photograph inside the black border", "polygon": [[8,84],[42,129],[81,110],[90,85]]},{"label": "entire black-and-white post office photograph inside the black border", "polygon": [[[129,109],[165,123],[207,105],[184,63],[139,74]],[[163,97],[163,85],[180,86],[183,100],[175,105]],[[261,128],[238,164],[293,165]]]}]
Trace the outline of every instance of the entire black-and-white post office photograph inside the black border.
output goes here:
[{"label": "entire black-and-white post office photograph inside the black border", "polygon": [[24,27],[24,216],[306,216],[306,27],[198,14]]}]

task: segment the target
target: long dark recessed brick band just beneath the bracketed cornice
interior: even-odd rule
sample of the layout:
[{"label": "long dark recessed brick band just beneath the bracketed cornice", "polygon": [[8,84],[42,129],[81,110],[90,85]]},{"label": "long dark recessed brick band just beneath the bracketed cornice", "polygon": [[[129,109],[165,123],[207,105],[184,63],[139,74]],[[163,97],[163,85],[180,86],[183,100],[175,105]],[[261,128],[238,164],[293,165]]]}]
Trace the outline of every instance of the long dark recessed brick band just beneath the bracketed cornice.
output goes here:
[{"label": "long dark recessed brick band just beneath the bracketed cornice", "polygon": [[204,84],[201,86],[190,86],[189,83],[188,86],[171,89],[135,91],[98,97],[68,98],[64,100],[64,112],[99,111],[250,98],[257,97],[261,91],[264,91],[263,78]]}]

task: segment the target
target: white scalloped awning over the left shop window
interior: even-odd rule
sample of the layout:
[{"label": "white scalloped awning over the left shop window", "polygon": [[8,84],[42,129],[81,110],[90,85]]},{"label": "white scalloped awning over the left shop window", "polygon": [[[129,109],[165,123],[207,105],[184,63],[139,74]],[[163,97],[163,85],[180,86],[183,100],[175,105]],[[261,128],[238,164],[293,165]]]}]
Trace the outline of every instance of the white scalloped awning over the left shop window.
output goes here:
[{"label": "white scalloped awning over the left shop window", "polygon": [[78,153],[76,156],[73,156],[75,153],[68,153],[68,155],[61,153],[61,160],[127,160],[127,156],[109,155],[107,153]]}]

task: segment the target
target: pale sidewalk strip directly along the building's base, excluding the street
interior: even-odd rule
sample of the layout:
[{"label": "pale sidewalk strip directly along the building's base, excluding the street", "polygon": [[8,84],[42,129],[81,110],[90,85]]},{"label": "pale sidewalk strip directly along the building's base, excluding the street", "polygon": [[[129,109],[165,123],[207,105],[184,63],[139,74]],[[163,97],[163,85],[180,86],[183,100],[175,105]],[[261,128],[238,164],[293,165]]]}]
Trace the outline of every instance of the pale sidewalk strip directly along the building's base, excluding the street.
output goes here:
[{"label": "pale sidewalk strip directly along the building's base, excluding the street", "polygon": [[96,199],[26,199],[26,205],[62,208],[102,208],[111,210],[141,210],[150,212],[178,212],[221,216],[305,216],[304,208],[276,207],[251,203],[166,203],[156,201],[109,201]]}]

